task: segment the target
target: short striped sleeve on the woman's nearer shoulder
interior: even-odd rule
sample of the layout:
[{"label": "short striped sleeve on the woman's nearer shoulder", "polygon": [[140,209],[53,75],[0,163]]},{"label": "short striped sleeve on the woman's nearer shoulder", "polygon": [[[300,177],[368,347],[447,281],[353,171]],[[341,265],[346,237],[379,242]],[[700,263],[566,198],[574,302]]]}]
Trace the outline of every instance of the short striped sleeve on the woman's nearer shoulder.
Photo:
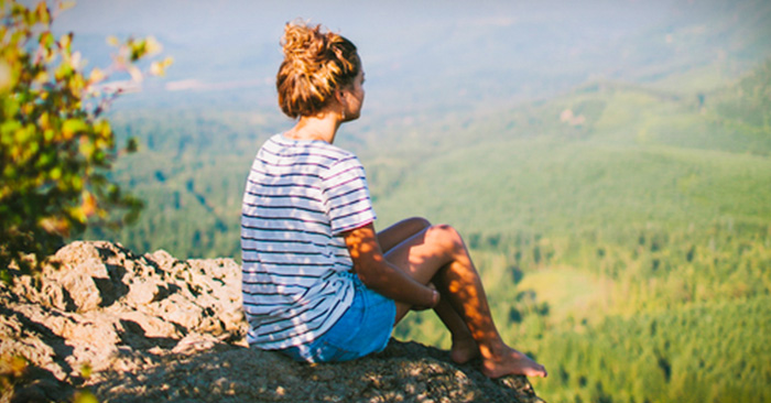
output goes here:
[{"label": "short striped sleeve on the woman's nearer shoulder", "polygon": [[354,155],[335,162],[323,177],[323,198],[332,233],[362,227],[377,218],[363,166]]}]

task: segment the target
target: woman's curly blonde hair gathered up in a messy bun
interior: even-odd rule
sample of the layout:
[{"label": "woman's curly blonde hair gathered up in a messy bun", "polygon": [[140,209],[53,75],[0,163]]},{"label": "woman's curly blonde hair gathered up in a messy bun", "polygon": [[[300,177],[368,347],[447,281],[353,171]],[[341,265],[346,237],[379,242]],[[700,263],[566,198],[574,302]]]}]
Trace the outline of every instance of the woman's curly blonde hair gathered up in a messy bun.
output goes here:
[{"label": "woman's curly blonde hair gathered up in a messy bun", "polygon": [[361,69],[356,45],[321,25],[290,22],[281,44],[284,61],[275,87],[279,106],[290,118],[318,113]]}]

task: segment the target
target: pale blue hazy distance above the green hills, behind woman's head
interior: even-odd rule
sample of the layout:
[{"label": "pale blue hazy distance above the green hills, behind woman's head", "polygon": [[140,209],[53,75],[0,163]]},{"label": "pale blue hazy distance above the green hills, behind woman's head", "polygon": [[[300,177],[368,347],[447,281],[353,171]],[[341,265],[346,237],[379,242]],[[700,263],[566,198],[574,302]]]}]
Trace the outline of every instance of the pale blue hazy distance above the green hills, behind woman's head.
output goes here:
[{"label": "pale blue hazy distance above the green hills, behind woman's head", "polygon": [[[496,108],[542,99],[590,79],[677,87],[694,72],[736,77],[771,54],[771,4],[735,2],[82,1],[62,31],[91,63],[109,63],[110,34],[155,35],[175,64],[117,108],[272,106],[283,23],[324,23],[359,46],[370,113]],[[430,18],[427,15],[431,15]]]}]

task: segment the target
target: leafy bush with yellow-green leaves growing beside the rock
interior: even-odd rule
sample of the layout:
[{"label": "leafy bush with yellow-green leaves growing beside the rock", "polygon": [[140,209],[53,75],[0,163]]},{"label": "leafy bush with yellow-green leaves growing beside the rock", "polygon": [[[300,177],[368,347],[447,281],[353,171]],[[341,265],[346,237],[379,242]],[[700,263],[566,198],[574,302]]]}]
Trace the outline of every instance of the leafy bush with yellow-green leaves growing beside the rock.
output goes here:
[{"label": "leafy bush with yellow-green leaves growing beside the rock", "polygon": [[[106,175],[116,145],[100,115],[120,90],[100,86],[120,70],[140,80],[133,63],[159,45],[129,39],[117,44],[113,66],[87,76],[80,54],[72,50],[73,33],[55,37],[52,32],[55,13],[66,7],[52,12],[45,2],[34,9],[0,2],[0,276],[6,281],[12,261],[29,272],[89,219],[126,209],[110,222],[118,225],[135,219],[141,208]],[[154,64],[155,73],[170,63]]]}]

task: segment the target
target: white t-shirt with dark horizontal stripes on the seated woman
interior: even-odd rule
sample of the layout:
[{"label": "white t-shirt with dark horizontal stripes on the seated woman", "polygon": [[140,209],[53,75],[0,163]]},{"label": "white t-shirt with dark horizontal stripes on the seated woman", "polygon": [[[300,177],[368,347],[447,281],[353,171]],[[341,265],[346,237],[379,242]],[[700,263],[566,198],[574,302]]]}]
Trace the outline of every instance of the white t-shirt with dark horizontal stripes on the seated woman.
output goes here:
[{"label": "white t-shirt with dark horizontal stripes on the seated woman", "polygon": [[343,232],[374,220],[356,155],[273,135],[257,153],[241,210],[247,340],[263,349],[312,341],[354,299]]}]

